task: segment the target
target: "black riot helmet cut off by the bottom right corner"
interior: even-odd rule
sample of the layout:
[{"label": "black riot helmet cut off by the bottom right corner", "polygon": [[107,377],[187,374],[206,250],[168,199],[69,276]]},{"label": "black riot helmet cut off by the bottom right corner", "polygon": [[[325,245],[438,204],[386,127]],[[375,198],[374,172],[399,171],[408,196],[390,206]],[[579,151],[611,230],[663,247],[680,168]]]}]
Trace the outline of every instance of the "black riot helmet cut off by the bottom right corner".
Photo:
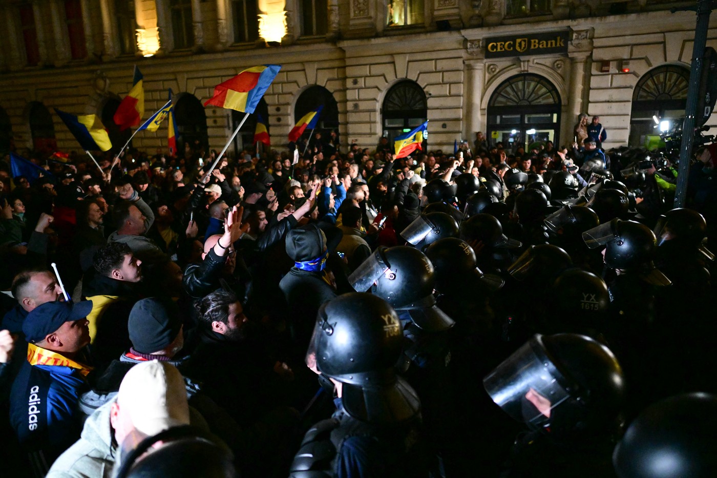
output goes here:
[{"label": "black riot helmet cut off by the bottom right corner", "polygon": [[645,408],[615,446],[620,478],[713,478],[717,396],[685,393]]}]

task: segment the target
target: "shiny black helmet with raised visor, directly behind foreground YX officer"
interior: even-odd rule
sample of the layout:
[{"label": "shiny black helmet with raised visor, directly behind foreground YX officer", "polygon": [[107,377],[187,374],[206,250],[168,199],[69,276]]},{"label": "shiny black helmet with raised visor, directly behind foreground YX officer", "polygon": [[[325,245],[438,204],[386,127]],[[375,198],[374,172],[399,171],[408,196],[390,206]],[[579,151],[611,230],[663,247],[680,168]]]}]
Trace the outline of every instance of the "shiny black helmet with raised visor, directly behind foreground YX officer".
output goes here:
[{"label": "shiny black helmet with raised visor, directly behind foreground YX officer", "polygon": [[379,247],[348,276],[348,282],[356,291],[371,288],[394,309],[408,311],[420,329],[437,332],[453,327],[452,319],[435,306],[433,265],[418,249]]}]

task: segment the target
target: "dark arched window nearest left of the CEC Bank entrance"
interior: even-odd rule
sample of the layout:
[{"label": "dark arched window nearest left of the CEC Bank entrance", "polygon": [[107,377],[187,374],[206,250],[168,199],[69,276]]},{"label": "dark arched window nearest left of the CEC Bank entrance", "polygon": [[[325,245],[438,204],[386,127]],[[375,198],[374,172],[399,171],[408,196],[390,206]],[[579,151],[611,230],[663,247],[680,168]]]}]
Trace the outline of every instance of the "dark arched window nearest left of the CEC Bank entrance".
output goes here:
[{"label": "dark arched window nearest left of the CEC Bank entrance", "polygon": [[394,138],[422,125],[428,118],[426,93],[421,85],[406,80],[391,86],[381,106],[383,136]]}]

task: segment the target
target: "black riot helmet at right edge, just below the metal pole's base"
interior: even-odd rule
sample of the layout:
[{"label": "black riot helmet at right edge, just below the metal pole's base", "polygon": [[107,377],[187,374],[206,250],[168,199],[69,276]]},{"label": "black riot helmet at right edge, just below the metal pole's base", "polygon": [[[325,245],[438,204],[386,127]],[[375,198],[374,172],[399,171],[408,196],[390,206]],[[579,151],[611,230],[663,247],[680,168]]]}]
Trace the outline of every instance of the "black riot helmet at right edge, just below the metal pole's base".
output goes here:
[{"label": "black riot helmet at right edge, just below the metal pole's base", "polygon": [[695,210],[678,207],[666,212],[657,220],[652,232],[657,238],[657,247],[674,244],[685,249],[697,248],[706,258],[714,261],[714,254],[703,245],[707,222]]}]

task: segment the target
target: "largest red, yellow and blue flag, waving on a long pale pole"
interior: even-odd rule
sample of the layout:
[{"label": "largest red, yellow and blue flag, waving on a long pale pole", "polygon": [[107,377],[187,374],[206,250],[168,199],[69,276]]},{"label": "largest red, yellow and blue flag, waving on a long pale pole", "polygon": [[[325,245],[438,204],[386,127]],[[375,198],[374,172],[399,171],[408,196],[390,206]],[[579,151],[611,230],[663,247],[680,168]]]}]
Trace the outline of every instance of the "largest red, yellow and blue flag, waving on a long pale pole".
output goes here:
[{"label": "largest red, yellow and blue flag, waving on a long pale pole", "polygon": [[214,96],[204,106],[254,113],[259,100],[281,70],[281,65],[259,65],[242,71],[239,75],[214,87]]}]

